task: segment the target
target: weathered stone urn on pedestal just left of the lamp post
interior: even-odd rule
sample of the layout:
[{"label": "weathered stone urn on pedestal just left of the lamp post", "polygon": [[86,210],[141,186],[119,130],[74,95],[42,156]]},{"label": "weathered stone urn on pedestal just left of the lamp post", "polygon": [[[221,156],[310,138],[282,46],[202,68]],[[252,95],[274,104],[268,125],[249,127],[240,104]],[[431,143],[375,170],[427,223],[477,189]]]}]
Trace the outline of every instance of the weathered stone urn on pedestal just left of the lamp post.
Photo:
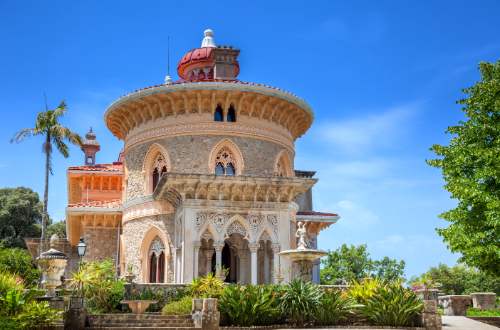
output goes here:
[{"label": "weathered stone urn on pedestal just left of the lamp post", "polygon": [[55,297],[56,288],[62,284],[61,277],[66,269],[68,257],[56,249],[49,249],[37,258],[42,270],[42,286],[47,290],[46,297]]}]

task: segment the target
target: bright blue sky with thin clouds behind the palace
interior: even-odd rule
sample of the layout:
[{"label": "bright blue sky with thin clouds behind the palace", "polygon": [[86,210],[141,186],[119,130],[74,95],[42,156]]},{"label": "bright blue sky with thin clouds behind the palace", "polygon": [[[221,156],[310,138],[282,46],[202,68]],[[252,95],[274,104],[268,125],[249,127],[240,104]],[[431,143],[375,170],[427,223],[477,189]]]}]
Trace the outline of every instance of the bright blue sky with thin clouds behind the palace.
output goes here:
[{"label": "bright blue sky with thin clouds behind the palace", "polygon": [[[296,141],[295,167],[315,170],[314,208],[341,219],[322,249],[367,244],[373,258],[406,262],[406,276],[453,265],[435,228],[455,201],[429,148],[446,144],[463,119],[456,101],[479,80],[480,61],[500,55],[499,1],[8,1],[0,0],[0,187],[43,193],[42,139],[11,144],[36,114],[61,100],[63,123],[90,126],[98,162],[123,142],[107,130],[106,107],[160,84],[211,28],[241,49],[239,79],[293,92],[315,122]],[[66,168],[54,157],[49,213],[64,219]]]}]

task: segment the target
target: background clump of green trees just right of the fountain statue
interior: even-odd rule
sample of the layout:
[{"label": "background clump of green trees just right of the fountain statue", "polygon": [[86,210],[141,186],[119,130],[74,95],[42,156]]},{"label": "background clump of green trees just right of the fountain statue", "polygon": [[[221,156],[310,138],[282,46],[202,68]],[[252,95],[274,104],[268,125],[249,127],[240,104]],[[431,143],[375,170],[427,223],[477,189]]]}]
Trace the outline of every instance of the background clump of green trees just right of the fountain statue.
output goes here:
[{"label": "background clump of green trees just right of the fountain statue", "polygon": [[360,281],[366,277],[377,277],[384,281],[401,279],[404,274],[403,260],[384,257],[382,260],[370,258],[366,245],[343,244],[334,251],[329,251],[322,260],[322,284],[344,284]]}]

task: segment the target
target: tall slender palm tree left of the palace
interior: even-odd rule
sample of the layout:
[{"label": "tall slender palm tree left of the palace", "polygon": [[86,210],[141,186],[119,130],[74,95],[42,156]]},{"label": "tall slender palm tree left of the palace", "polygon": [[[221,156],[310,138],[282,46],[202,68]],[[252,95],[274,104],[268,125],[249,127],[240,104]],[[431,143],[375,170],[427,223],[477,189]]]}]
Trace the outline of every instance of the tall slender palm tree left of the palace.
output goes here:
[{"label": "tall slender palm tree left of the palace", "polygon": [[43,213],[42,213],[42,235],[40,241],[40,253],[45,250],[46,232],[47,232],[47,222],[48,213],[47,206],[49,203],[49,173],[52,174],[52,145],[55,144],[57,150],[64,156],[64,158],[69,157],[69,148],[65,141],[69,141],[75,145],[81,145],[81,137],[73,133],[69,128],[62,126],[59,123],[59,118],[61,118],[66,113],[66,103],[64,101],[59,104],[55,109],[48,109],[45,107],[45,111],[39,112],[34,128],[24,128],[17,132],[14,137],[10,140],[11,143],[21,142],[27,137],[42,135],[44,137],[44,143],[42,147],[43,153],[45,153],[45,190],[43,193]]}]

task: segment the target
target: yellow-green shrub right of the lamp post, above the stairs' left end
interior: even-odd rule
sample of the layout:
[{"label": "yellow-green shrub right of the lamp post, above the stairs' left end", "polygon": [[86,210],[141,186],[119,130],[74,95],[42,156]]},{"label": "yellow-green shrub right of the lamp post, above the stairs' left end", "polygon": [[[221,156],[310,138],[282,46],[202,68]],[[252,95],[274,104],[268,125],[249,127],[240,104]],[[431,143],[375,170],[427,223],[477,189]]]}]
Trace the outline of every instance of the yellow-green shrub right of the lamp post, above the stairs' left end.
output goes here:
[{"label": "yellow-green shrub right of the lamp post, above the stairs' left end", "polygon": [[113,260],[85,263],[73,274],[73,289],[82,290],[92,313],[116,311],[125,294],[125,283],[116,279]]}]

